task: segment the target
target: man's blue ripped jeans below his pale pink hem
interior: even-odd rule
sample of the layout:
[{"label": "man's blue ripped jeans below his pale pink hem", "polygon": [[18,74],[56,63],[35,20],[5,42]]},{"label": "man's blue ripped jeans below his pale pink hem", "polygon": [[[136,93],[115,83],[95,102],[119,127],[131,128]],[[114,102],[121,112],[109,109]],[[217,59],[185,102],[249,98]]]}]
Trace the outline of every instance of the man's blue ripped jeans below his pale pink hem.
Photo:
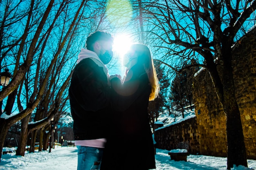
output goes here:
[{"label": "man's blue ripped jeans below his pale pink hem", "polygon": [[103,148],[89,146],[77,146],[77,148],[77,170],[99,170],[101,168]]}]

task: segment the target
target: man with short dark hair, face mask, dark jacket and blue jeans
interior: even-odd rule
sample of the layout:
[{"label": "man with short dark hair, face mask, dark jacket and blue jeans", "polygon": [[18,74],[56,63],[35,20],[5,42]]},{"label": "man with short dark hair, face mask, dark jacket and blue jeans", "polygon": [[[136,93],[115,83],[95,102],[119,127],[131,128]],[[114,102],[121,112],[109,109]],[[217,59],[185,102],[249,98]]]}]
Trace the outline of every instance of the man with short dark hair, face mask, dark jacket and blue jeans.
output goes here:
[{"label": "man with short dark hair, face mask, dark jacket and blue jeans", "polygon": [[77,170],[100,169],[111,112],[105,64],[112,59],[112,44],[110,33],[96,31],[90,34],[72,75],[69,97],[78,148]]}]

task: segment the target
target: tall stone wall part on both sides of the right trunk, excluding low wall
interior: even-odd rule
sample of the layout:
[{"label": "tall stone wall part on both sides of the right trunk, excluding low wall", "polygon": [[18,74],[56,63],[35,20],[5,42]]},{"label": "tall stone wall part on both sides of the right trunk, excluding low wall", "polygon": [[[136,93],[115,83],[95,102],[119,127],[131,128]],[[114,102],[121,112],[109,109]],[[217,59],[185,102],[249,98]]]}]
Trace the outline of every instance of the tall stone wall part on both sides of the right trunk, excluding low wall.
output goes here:
[{"label": "tall stone wall part on both sides of the right trunk, excluding low wall", "polygon": [[[255,29],[254,29],[255,30]],[[234,83],[247,158],[256,159],[256,32],[242,38],[233,50]],[[200,154],[227,156],[226,118],[209,73],[204,69],[194,81]]]}]

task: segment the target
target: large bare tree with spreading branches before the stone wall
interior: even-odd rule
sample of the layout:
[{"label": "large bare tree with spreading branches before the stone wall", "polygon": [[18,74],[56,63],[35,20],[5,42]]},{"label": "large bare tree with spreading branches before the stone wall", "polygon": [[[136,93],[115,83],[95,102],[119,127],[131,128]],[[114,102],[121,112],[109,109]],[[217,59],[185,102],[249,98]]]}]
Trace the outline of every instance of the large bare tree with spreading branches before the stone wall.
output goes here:
[{"label": "large bare tree with spreading branches before the stone wall", "polygon": [[[232,47],[255,24],[252,0],[156,0],[144,2],[147,29],[156,52],[176,71],[194,58],[207,68],[223,106],[227,129],[227,169],[247,167],[243,128],[235,96]],[[204,63],[203,63],[204,61]]]}]

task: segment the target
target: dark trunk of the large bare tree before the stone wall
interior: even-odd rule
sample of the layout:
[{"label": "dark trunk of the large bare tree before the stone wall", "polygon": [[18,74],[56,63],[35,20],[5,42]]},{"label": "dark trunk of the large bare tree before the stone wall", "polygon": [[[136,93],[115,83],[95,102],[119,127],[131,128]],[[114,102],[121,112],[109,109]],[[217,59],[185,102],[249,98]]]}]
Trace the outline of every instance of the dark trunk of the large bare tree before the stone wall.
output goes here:
[{"label": "dark trunk of the large bare tree before the stone wall", "polygon": [[233,165],[243,165],[247,167],[243,127],[240,111],[236,102],[233,75],[231,73],[227,71],[223,75],[223,109],[226,113],[228,170],[233,168]]}]

